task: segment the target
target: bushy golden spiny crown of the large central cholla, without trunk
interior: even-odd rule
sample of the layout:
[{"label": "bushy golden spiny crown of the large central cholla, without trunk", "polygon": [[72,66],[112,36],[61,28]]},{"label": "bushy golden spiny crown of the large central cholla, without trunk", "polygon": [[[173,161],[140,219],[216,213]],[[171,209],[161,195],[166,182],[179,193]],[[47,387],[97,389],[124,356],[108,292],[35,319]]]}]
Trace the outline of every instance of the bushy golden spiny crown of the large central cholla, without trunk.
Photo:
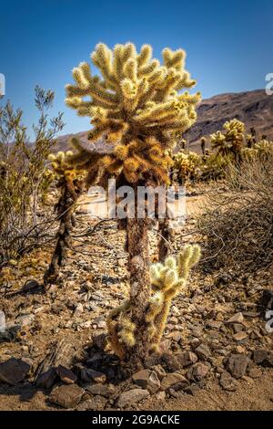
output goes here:
[{"label": "bushy golden spiny crown of the large central cholla, without trunk", "polygon": [[196,84],[184,68],[185,58],[182,49],[166,48],[160,65],[149,45],[137,53],[132,43],[113,50],[100,43],[91,59],[101,77],[92,76],[86,62],[73,69],[76,84],[66,86],[67,106],[92,118],[89,141],[104,137],[115,143],[113,153],[94,157],[72,141],[78,152],[71,162],[86,168],[89,183],[105,173],[120,176],[123,183],[167,183],[173,132],[193,125],[200,100],[199,93],[178,92]]}]

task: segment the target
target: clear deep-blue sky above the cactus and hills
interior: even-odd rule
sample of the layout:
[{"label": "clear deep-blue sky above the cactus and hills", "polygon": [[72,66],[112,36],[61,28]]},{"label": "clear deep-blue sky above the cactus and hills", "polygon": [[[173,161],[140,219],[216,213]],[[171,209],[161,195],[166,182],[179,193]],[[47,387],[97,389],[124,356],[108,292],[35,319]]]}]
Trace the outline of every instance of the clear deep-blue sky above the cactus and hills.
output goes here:
[{"label": "clear deep-blue sky above the cactus and hills", "polygon": [[89,128],[66,108],[71,69],[98,42],[149,43],[187,51],[187,69],[203,98],[265,87],[273,72],[273,0],[0,0],[0,73],[6,95],[35,120],[33,89],[56,92],[67,132]]}]

